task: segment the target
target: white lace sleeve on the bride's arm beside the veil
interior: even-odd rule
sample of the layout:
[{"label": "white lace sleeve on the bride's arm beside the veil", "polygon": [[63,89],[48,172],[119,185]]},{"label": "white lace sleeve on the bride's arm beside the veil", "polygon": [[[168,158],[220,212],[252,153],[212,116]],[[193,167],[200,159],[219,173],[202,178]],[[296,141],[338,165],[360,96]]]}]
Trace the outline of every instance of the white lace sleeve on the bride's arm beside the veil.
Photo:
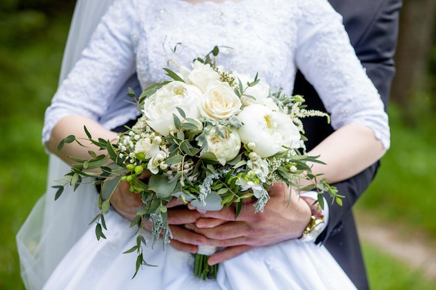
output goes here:
[{"label": "white lace sleeve on the bride's arm beside the veil", "polygon": [[45,112],[42,142],[66,115],[100,120],[117,92],[135,72],[134,35],[137,21],[134,1],[115,1],[68,77],[61,83]]}]

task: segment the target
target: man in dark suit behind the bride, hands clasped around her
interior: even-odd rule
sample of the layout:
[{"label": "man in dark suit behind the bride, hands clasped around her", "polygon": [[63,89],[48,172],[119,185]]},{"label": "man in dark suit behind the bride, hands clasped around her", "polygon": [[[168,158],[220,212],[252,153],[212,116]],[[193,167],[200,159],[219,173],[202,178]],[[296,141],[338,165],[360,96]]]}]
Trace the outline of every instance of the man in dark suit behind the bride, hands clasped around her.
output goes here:
[{"label": "man in dark suit behind the bride, hands clasped around her", "polygon": [[[368,76],[379,90],[385,106],[394,76],[392,58],[396,48],[401,2],[402,0],[330,0],[338,13],[343,15],[351,43],[366,67]],[[309,108],[325,111],[316,91],[305,81],[302,74],[297,74],[294,93],[304,95]],[[306,132],[310,132],[307,136],[309,143],[306,144],[308,150],[333,131],[324,119],[316,118],[307,118],[304,128]],[[368,281],[351,209],[370,184],[378,166],[376,163],[359,175],[334,184],[339,194],[345,195],[343,206],[332,204],[326,196],[325,204],[328,209],[323,214],[327,215],[328,210],[328,222],[324,224],[325,228],[320,234],[309,233],[309,242],[326,245],[357,289],[368,289]],[[125,186],[118,189],[111,199],[112,205],[120,214],[130,217],[131,209],[137,207],[134,205],[137,195],[129,195]],[[251,207],[244,207],[237,222],[234,221],[234,212],[228,208],[207,213],[179,207],[169,209],[169,223],[173,232],[171,245],[189,252],[196,252],[196,245],[202,245],[206,241],[226,247],[210,257],[209,261],[216,264],[254,247],[298,239],[302,236],[311,214],[320,214],[315,209],[311,213],[310,198],[293,198],[289,207],[274,207],[274,202],[283,204],[283,193],[272,192],[271,195],[272,198],[267,202],[263,213],[254,214]]]}]

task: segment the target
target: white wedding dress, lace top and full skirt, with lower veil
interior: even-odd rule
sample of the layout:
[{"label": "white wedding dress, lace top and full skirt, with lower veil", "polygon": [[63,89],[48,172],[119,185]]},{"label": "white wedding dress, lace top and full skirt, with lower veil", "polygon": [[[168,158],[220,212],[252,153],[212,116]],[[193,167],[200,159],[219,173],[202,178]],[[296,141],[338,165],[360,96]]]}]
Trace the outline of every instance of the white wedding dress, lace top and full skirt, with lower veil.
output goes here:
[{"label": "white wedding dress, lace top and full skirt, with lower veil", "polygon": [[[389,147],[380,96],[327,1],[114,2],[47,109],[44,141],[65,115],[86,115],[107,128],[136,118],[137,108],[117,94],[134,72],[144,88],[166,79],[162,68],[168,63],[188,66],[219,45],[219,65],[253,76],[257,72],[262,81],[288,93],[298,67],[320,93],[335,129],[371,127]],[[49,185],[54,185],[68,166],[53,157],[50,170]],[[355,289],[325,247],[299,241],[225,261],[217,280],[206,281],[192,275],[191,254],[169,245],[164,250],[158,243],[143,252],[156,266],[143,266],[131,279],[136,254],[123,254],[136,244],[130,222],[109,211],[107,239],[97,241],[94,225],[88,225],[97,211],[95,188],[69,189],[56,202],[53,196],[49,188],[17,236],[28,289]]]}]

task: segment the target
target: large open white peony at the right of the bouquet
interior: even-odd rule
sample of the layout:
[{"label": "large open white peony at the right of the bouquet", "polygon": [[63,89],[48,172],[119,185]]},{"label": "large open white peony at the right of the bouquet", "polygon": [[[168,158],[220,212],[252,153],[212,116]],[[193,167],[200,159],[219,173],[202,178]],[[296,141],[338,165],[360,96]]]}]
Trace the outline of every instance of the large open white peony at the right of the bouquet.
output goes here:
[{"label": "large open white peony at the right of the bouquet", "polygon": [[[244,144],[253,142],[253,151],[260,157],[270,157],[286,150],[299,147],[301,138],[298,128],[284,113],[272,111],[260,104],[245,107],[238,117],[242,120],[239,129]],[[285,146],[285,147],[283,147]]]}]

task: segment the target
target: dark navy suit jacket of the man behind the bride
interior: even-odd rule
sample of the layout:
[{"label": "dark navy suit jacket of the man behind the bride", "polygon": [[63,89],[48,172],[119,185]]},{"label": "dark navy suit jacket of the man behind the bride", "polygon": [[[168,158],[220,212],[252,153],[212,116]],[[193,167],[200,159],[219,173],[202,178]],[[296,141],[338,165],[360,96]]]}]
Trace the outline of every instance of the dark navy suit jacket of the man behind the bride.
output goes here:
[{"label": "dark navy suit jacket of the man behind the bride", "polygon": [[[394,76],[394,53],[398,35],[398,18],[402,0],[329,0],[343,16],[350,42],[366,72],[380,92],[385,107],[389,100],[391,80]],[[295,79],[294,93],[303,95],[309,108],[325,111],[316,90],[301,73]],[[308,150],[332,134],[334,129],[322,118],[305,118],[304,129],[309,138]],[[352,205],[366,190],[379,163],[367,168],[355,177],[334,184],[339,194],[345,195],[343,206],[329,201],[329,224],[317,239],[324,243],[343,267],[357,289],[368,289],[368,280],[361,256]]]}]

